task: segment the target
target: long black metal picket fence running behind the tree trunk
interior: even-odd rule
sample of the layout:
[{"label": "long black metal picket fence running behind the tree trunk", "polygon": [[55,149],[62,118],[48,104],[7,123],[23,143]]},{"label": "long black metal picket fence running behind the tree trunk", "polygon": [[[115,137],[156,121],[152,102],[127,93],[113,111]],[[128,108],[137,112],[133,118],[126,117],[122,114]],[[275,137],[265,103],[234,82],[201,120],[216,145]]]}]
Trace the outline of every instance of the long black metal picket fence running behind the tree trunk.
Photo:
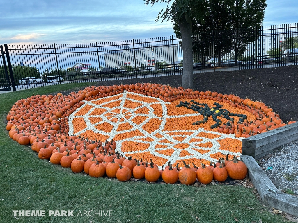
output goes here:
[{"label": "long black metal picket fence running behind the tree trunk", "polygon": [[[1,45],[0,91],[182,75],[175,36],[106,43]],[[298,24],[193,35],[194,73],[297,64]]]}]

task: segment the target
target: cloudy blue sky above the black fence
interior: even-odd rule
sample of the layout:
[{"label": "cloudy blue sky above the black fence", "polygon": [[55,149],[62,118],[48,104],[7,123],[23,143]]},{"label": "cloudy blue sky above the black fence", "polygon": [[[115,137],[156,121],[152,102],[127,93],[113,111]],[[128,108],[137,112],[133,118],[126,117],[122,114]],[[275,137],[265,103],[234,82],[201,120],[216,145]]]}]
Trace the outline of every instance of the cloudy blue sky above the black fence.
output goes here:
[{"label": "cloudy blue sky above the black fence", "polygon": [[[298,22],[298,0],[267,0],[263,25]],[[170,36],[166,5],[142,0],[0,0],[0,44],[94,43]]]}]

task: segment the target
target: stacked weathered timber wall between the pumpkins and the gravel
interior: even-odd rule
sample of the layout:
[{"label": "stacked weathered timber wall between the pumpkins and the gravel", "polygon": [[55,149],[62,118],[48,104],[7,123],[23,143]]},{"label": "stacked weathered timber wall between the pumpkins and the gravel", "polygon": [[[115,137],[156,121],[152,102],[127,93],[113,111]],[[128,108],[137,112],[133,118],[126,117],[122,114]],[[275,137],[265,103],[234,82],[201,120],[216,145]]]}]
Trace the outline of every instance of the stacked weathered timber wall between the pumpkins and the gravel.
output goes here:
[{"label": "stacked weathered timber wall between the pumpkins and the gravel", "polygon": [[298,139],[298,122],[242,140],[242,154],[259,159]]}]

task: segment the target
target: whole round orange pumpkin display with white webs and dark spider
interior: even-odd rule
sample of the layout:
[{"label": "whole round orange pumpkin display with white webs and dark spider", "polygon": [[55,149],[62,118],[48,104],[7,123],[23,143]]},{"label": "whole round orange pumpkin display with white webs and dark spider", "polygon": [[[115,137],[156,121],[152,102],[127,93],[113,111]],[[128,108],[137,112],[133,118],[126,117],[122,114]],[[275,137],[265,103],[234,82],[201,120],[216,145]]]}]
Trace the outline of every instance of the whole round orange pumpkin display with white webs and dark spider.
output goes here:
[{"label": "whole round orange pumpkin display with white webs and dark spider", "polygon": [[[193,172],[201,183],[209,182],[207,171],[213,167],[217,172],[226,168],[231,178],[245,178],[247,168],[237,161],[241,140],[295,123],[283,123],[262,101],[151,83],[32,95],[18,100],[6,119],[10,138],[31,144],[39,158],[53,164],[71,167],[74,162],[74,172],[82,172],[82,165],[88,172],[96,160],[103,160],[103,167],[115,167],[114,177],[115,171],[128,168],[137,178],[147,171],[147,178],[155,180],[157,169],[159,177],[167,170],[173,181],[176,171],[184,184],[193,182]],[[210,162],[214,166],[205,167]]]}]

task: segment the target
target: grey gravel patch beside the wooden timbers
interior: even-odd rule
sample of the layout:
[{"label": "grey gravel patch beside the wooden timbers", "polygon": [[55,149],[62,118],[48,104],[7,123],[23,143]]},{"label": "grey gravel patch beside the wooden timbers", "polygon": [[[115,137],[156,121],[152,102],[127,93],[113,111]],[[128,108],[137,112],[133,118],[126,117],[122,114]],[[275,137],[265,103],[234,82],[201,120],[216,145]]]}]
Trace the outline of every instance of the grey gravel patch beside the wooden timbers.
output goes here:
[{"label": "grey gravel patch beside the wooden timbers", "polygon": [[258,161],[278,189],[298,194],[298,140],[282,146]]}]

